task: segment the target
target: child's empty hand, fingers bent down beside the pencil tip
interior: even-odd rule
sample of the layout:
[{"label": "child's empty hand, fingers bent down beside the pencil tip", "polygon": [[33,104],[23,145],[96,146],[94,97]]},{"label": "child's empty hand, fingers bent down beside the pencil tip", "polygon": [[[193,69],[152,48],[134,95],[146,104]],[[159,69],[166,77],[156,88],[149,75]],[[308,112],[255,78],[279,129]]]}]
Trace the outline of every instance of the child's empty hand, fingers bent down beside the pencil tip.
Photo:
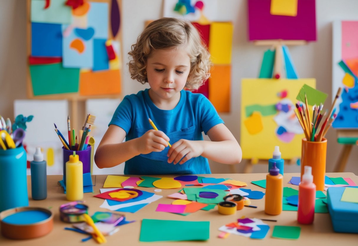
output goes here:
[{"label": "child's empty hand, fingers bent down beside the pencil tip", "polygon": [[185,161],[200,156],[203,151],[204,148],[200,145],[199,141],[180,139],[178,142],[171,145],[171,148],[168,151],[168,163],[174,161],[175,165],[181,160],[179,164],[182,165]]}]

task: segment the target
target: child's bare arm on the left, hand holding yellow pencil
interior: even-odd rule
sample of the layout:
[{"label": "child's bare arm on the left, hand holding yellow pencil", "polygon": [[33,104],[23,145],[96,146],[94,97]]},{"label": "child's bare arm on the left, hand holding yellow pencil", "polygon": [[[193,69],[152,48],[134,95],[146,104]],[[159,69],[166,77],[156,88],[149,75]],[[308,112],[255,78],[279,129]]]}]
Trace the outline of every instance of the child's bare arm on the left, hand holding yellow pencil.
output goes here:
[{"label": "child's bare arm on the left, hand holding yellow pencil", "polygon": [[123,142],[126,132],[121,127],[110,125],[95,154],[99,168],[113,167],[139,154],[160,152],[168,146],[169,138],[162,131],[149,130],[139,138]]}]

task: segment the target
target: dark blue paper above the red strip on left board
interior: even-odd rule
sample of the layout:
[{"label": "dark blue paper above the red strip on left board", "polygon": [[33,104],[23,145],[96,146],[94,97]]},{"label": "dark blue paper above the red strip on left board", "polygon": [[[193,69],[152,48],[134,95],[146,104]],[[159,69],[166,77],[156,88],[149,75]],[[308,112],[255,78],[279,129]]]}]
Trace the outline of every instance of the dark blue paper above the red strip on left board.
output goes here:
[{"label": "dark blue paper above the red strip on left board", "polygon": [[31,55],[62,56],[61,24],[31,23]]}]

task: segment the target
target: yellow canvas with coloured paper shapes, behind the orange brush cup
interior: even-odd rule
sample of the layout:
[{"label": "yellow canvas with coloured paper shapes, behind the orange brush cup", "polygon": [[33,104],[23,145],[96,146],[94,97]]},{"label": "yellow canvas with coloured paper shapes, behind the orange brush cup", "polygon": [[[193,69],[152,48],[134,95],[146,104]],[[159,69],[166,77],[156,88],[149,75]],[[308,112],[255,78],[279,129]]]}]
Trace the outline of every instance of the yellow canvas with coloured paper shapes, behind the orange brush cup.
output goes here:
[{"label": "yellow canvas with coloured paper shapes, behind the orange brush cup", "polygon": [[[291,110],[294,110],[297,102],[296,96],[304,84],[316,88],[315,79],[242,79],[240,145],[243,159],[270,159],[275,146],[280,146],[281,155],[284,159],[294,159],[301,156],[301,140],[304,134],[303,131],[301,134],[291,132],[292,129],[295,131],[300,129],[293,111],[286,113],[272,110],[270,107],[275,108],[278,103],[289,105],[290,101]],[[280,98],[279,95],[284,90],[287,90],[287,97]],[[247,110],[252,106],[255,106],[255,109],[262,110],[262,129],[255,134],[250,133],[245,125],[247,119],[253,114],[253,112]],[[282,119],[285,119],[285,121],[278,124],[277,122],[281,122]],[[288,123],[290,125],[286,125]],[[279,133],[282,132],[280,126],[287,128],[288,132],[280,135]],[[252,132],[252,129],[250,131]],[[291,138],[282,138],[283,135]]]}]

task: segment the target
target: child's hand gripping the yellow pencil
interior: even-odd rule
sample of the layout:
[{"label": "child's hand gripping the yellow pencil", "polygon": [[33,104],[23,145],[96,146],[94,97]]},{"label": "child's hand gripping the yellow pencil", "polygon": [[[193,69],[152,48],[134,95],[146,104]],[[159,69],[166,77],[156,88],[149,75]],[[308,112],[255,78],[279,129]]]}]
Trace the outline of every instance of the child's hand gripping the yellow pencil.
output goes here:
[{"label": "child's hand gripping the yellow pencil", "polygon": [[160,152],[168,146],[169,137],[162,131],[149,130],[140,137],[138,150],[141,154]]}]

